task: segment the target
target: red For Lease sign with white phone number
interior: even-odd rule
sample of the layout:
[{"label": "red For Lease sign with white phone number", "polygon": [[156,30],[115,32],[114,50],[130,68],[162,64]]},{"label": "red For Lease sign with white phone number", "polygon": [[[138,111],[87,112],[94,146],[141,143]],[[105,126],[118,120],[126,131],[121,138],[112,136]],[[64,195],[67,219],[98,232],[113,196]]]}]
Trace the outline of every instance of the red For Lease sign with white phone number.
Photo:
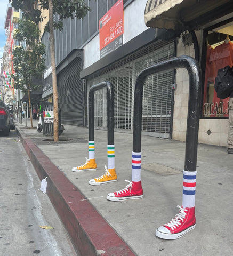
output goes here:
[{"label": "red For Lease sign with white phone number", "polygon": [[119,0],[100,19],[100,50],[124,33],[123,0]]}]

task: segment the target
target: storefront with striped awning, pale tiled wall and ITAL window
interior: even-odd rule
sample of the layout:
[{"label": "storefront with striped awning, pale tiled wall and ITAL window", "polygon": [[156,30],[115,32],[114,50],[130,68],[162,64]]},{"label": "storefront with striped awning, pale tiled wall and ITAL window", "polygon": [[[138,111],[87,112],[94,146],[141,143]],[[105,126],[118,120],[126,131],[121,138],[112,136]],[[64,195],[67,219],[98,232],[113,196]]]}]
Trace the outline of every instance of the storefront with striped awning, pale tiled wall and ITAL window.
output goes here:
[{"label": "storefront with striped awning, pale tiled wall and ITAL window", "polygon": [[[191,55],[202,69],[202,113],[199,142],[227,146],[228,102],[216,97],[218,69],[233,66],[233,4],[229,0],[147,1],[148,27],[179,31],[177,55]],[[173,139],[185,140],[188,90],[187,72],[177,70]]]}]

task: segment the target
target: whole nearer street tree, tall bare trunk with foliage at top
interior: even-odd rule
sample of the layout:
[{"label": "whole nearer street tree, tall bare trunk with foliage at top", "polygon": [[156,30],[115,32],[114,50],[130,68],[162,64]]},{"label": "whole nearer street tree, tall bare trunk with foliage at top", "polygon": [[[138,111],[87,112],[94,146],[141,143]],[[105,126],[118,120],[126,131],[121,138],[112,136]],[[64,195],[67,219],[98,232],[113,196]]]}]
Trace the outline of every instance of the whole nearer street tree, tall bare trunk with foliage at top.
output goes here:
[{"label": "whole nearer street tree, tall bare trunk with foliage at top", "polygon": [[[21,9],[25,17],[31,17],[35,23],[43,21],[42,10],[49,10],[49,22],[45,26],[45,30],[50,33],[50,54],[52,67],[52,84],[53,84],[53,139],[59,141],[59,116],[58,116],[58,90],[57,90],[57,74],[55,64],[55,44],[54,29],[62,30],[63,19],[77,18],[82,19],[90,10],[84,0],[9,0],[12,7]],[[38,5],[36,5],[38,3]],[[39,6],[36,8],[35,6]],[[54,21],[54,15],[59,15],[59,20]]]}]

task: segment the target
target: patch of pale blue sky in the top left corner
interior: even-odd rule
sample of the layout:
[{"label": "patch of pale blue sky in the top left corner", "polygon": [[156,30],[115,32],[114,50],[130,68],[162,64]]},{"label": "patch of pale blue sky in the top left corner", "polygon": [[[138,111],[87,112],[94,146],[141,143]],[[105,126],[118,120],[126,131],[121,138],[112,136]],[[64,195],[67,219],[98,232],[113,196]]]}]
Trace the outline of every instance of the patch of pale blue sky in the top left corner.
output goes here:
[{"label": "patch of pale blue sky in the top left corner", "polygon": [[3,47],[5,46],[6,43],[4,23],[8,3],[8,0],[0,0],[0,57],[3,56]]}]

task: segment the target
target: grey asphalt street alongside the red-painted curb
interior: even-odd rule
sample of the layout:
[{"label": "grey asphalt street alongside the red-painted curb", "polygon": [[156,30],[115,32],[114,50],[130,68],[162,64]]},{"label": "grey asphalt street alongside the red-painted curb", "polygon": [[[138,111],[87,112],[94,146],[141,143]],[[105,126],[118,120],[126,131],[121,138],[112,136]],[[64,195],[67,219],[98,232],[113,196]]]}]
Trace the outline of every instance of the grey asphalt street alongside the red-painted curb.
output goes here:
[{"label": "grey asphalt street alongside the red-painted curb", "polygon": [[77,255],[12,130],[8,137],[0,134],[0,175],[0,255]]}]

